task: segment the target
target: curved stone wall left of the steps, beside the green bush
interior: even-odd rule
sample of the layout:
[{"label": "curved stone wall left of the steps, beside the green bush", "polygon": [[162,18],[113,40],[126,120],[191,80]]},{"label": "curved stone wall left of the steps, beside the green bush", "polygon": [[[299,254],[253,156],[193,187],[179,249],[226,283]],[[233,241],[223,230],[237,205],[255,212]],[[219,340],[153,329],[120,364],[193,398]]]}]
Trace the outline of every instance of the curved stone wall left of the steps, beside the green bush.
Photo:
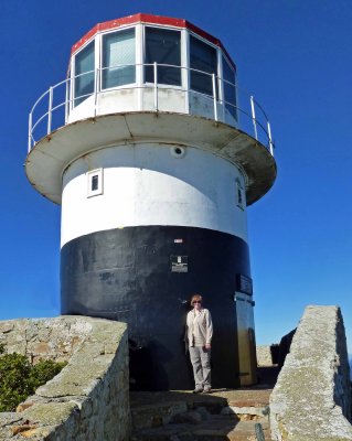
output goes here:
[{"label": "curved stone wall left of the steps, beside the green bush", "polygon": [[68,361],[19,411],[0,413],[0,439],[129,439],[126,324],[83,316],[4,321],[0,343],[34,363]]}]

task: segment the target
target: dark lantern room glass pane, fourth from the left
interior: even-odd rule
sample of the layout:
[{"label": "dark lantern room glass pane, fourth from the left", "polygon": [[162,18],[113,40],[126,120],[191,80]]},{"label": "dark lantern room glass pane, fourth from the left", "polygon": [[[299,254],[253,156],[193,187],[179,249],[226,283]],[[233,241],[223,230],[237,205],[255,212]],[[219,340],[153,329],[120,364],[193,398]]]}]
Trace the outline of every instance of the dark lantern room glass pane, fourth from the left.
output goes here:
[{"label": "dark lantern room glass pane, fourth from the left", "polygon": [[[191,88],[201,94],[213,96],[212,75],[217,75],[216,49],[191,35],[190,67]],[[192,71],[195,69],[195,71]],[[196,72],[202,71],[202,72]],[[216,86],[217,87],[217,86]]]}]

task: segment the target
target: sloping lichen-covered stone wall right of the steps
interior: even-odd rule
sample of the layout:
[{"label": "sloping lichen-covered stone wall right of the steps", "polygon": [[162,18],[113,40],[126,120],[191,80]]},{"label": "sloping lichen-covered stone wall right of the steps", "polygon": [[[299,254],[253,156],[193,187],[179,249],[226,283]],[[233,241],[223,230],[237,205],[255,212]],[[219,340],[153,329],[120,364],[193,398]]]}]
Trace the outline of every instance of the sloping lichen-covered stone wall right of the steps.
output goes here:
[{"label": "sloping lichen-covered stone wall right of the steps", "polygon": [[307,306],[270,397],[273,440],[352,440],[349,378],[340,309]]}]

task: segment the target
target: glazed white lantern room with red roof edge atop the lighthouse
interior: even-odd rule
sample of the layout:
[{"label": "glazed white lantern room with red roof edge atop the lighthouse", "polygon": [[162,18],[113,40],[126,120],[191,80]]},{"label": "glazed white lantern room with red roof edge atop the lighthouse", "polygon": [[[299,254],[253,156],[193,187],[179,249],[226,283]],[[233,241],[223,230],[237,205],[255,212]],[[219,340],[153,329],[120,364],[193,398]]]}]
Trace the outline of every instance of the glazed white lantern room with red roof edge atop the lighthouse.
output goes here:
[{"label": "glazed white lantern room with red roof edge atop the lighthouse", "polygon": [[236,67],[185,20],[136,14],[97,24],[72,49],[67,120],[172,111],[237,125]]}]

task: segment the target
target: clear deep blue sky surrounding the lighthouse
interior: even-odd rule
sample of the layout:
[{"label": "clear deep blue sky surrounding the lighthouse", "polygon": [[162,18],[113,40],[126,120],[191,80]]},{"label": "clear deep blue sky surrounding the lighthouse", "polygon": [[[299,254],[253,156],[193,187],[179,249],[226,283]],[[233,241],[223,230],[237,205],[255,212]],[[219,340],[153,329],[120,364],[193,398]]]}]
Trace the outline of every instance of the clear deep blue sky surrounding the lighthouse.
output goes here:
[{"label": "clear deep blue sky surrounding the lighthouse", "polygon": [[60,207],[24,174],[29,110],[64,79],[85,32],[137,12],[184,18],[220,37],[271,121],[278,178],[248,209],[257,343],[278,342],[307,304],[338,304],[352,352],[348,0],[3,2],[0,319],[60,310]]}]

